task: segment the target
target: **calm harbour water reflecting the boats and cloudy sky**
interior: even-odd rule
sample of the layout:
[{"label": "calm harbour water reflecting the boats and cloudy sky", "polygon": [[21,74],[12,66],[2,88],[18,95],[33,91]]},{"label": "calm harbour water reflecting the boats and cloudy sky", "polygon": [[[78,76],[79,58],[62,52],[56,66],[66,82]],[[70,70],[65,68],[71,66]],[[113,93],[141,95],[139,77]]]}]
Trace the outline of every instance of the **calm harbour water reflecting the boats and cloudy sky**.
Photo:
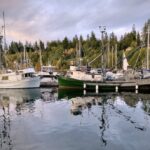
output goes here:
[{"label": "calm harbour water reflecting the boats and cloudy sky", "polygon": [[150,94],[77,93],[0,90],[0,150],[150,148]]}]

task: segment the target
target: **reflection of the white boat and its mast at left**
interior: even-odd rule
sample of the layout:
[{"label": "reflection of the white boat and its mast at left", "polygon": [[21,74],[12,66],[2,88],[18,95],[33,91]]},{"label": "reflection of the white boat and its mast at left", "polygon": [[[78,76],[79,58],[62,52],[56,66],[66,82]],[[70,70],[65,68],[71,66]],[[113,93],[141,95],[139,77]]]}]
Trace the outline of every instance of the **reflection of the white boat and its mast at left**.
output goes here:
[{"label": "reflection of the white boat and its mast at left", "polygon": [[12,118],[25,111],[33,113],[35,101],[57,100],[54,89],[14,89],[0,90],[0,149],[13,149],[11,138]]}]

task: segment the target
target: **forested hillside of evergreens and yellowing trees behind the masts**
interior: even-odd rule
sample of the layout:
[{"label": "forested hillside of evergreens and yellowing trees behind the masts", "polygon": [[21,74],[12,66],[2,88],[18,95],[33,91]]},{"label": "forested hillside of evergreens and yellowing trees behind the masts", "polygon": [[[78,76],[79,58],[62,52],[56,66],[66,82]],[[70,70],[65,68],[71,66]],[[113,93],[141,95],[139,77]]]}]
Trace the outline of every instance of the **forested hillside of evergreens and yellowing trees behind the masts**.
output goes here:
[{"label": "forested hillside of evergreens and yellowing trees behind the masts", "polygon": [[150,19],[143,25],[142,34],[136,31],[133,25],[131,31],[119,39],[113,32],[110,34],[105,32],[103,39],[98,39],[92,31],[86,38],[83,38],[82,35],[79,37],[75,35],[72,39],[64,37],[63,40],[48,41],[46,44],[41,40],[35,43],[27,41],[25,44],[21,41],[12,41],[5,50],[4,65],[7,68],[16,69],[23,62],[25,49],[26,61],[37,71],[41,66],[40,56],[42,56],[42,65],[51,64],[59,70],[66,70],[71,64],[78,65],[79,61],[82,65],[101,67],[102,53],[105,67],[115,68],[117,65],[118,68],[121,68],[124,51],[129,64],[134,68],[141,68],[145,65],[149,24]]}]

